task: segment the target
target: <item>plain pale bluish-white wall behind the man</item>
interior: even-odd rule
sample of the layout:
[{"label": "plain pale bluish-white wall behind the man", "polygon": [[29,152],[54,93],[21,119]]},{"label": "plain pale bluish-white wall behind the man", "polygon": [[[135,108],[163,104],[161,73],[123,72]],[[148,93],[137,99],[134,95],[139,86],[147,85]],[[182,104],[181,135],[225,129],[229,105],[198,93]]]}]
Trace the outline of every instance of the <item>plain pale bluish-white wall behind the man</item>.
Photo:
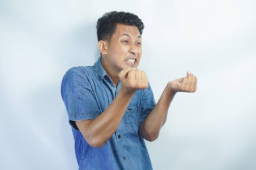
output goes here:
[{"label": "plain pale bluish-white wall behind the man", "polygon": [[139,15],[140,69],[156,101],[191,71],[196,93],[178,93],[147,142],[154,169],[256,169],[255,1],[0,1],[0,169],[77,169],[61,99],[67,69],[99,56],[96,20]]}]

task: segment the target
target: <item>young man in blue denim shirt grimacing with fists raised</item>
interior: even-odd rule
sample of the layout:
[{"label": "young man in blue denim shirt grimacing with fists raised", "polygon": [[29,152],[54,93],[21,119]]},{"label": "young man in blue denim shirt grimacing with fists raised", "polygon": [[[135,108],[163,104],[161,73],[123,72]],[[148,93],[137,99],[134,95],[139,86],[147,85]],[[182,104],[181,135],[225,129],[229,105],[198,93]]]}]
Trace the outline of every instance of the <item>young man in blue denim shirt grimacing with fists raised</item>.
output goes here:
[{"label": "young man in blue denim shirt grimacing with fists raised", "polygon": [[97,23],[101,57],[63,77],[79,169],[152,169],[143,139],[158,138],[175,93],[196,91],[197,79],[187,72],[166,85],[156,104],[146,73],[137,69],[143,27],[132,13],[105,13]]}]

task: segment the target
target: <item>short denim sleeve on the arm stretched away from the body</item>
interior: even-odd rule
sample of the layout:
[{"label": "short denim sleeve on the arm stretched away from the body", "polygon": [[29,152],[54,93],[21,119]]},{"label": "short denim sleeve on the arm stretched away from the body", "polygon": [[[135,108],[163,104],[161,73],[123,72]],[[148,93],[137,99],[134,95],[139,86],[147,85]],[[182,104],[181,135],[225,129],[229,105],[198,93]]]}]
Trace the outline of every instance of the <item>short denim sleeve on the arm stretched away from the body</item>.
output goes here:
[{"label": "short denim sleeve on the arm stretched away from the body", "polygon": [[141,114],[139,118],[141,123],[148,117],[148,115],[154,109],[155,105],[156,101],[154,99],[154,94],[150,84],[148,84],[148,88],[142,91],[141,96]]}]

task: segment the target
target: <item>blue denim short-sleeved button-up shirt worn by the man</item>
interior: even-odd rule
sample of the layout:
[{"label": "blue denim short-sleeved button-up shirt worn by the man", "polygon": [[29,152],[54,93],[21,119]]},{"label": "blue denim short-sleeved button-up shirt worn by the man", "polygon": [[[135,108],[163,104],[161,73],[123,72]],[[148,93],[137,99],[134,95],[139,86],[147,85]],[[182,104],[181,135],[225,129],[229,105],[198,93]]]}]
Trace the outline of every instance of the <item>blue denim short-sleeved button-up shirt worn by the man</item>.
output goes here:
[{"label": "blue denim short-sleeved button-up shirt worn by the man", "polygon": [[86,142],[75,126],[75,120],[97,118],[113,101],[117,87],[102,67],[101,58],[88,67],[69,69],[61,84],[61,95],[75,140],[75,155],[79,169],[152,169],[148,150],[139,124],[150,114],[156,102],[152,89],[141,89],[133,95],[119,127],[102,146],[94,148]]}]

